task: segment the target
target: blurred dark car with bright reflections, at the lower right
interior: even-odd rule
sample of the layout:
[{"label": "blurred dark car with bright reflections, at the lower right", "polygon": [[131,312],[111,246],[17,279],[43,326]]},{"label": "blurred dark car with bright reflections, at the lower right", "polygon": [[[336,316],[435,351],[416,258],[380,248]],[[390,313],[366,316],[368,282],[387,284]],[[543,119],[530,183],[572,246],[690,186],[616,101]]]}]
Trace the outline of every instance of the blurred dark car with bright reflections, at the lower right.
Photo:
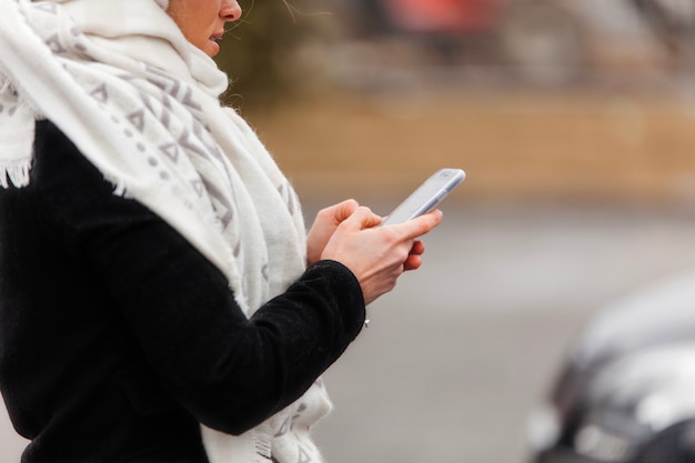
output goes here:
[{"label": "blurred dark car with bright reflections, at the lower right", "polygon": [[598,312],[528,437],[533,463],[694,463],[695,272]]}]

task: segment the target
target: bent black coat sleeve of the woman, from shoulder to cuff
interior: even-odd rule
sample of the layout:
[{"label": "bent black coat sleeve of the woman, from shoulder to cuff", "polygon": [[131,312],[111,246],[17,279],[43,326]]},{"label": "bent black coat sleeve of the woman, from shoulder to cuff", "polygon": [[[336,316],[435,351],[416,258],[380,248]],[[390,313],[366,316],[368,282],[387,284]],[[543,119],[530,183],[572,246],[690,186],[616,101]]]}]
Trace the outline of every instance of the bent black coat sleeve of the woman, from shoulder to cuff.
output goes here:
[{"label": "bent black coat sleeve of the woman, from shoulder to cuff", "polygon": [[51,123],[32,175],[67,246],[107,282],[177,402],[239,434],[299,399],[364,321],[355,276],[321,261],[251,320],[224,275],[169,224],[112,187]]}]

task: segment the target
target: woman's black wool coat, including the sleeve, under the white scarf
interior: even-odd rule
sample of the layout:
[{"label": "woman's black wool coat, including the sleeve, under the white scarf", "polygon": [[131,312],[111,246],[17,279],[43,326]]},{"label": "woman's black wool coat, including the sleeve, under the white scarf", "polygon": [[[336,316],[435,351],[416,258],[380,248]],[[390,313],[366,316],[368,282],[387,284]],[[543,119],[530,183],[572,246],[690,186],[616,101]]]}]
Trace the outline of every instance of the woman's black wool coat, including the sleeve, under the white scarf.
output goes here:
[{"label": "woman's black wool coat, including the sleeve, under the white scarf", "polygon": [[0,387],[22,462],[207,462],[346,349],[364,300],[321,261],[246,320],[224,275],[112,187],[52,123],[31,182],[0,189]]}]

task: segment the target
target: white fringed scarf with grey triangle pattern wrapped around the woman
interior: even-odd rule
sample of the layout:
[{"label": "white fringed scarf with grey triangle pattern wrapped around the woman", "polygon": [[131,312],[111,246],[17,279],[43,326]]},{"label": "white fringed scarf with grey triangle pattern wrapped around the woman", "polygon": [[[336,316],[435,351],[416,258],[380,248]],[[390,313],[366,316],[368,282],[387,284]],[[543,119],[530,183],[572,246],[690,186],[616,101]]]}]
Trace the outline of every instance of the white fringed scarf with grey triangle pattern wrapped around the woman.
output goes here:
[{"label": "white fringed scarf with grey triangle pattern wrapped around the woman", "polygon": [[[28,184],[36,120],[51,120],[117,194],[145,204],[216,265],[251,316],[304,270],[302,212],[254,132],[220,105],[226,77],[167,6],[0,0],[0,188],[8,178]],[[208,456],[321,462],[309,431],[330,409],[318,381],[241,436],[202,426]]]}]

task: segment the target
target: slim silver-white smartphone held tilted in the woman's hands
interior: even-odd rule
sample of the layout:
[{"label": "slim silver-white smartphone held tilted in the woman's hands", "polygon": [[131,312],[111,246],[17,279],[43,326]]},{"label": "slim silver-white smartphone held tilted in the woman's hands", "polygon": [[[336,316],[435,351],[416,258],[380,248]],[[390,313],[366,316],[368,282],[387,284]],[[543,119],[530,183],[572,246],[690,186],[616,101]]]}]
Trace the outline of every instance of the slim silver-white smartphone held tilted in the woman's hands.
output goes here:
[{"label": "slim silver-white smartphone held tilted in the woman's hands", "polygon": [[459,187],[465,177],[461,169],[440,169],[399,204],[382,222],[382,227],[407,222],[426,214]]}]

